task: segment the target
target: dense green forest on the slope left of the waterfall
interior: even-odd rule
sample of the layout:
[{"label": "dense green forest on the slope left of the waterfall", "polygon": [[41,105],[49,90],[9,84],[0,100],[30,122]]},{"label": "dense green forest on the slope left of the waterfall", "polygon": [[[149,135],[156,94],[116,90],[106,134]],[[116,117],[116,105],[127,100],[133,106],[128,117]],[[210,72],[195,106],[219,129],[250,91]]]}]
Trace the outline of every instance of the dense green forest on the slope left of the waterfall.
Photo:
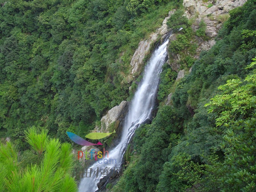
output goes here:
[{"label": "dense green forest on the slope left of the waterfall", "polygon": [[134,50],[176,4],[0,3],[0,136],[13,138],[20,149],[27,148],[28,126],[67,141],[67,130],[86,135],[102,114],[126,100]]}]

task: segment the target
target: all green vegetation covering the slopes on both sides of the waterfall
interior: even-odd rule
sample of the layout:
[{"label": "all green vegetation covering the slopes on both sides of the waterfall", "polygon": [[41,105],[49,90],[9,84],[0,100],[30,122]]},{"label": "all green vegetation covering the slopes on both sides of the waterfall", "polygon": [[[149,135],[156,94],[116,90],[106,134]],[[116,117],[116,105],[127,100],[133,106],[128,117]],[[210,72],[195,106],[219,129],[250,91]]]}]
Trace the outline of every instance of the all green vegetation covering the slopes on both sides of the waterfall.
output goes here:
[{"label": "all green vegetation covering the slopes on both sides of the waterfall", "polygon": [[[132,99],[132,55],[174,8],[168,51],[194,53],[205,25],[193,32],[181,1],[0,0],[0,189],[76,191],[66,131],[83,137]],[[110,191],[256,191],[256,1],[229,15],[209,51],[181,61],[191,73],[175,81],[164,64],[156,117]]]}]

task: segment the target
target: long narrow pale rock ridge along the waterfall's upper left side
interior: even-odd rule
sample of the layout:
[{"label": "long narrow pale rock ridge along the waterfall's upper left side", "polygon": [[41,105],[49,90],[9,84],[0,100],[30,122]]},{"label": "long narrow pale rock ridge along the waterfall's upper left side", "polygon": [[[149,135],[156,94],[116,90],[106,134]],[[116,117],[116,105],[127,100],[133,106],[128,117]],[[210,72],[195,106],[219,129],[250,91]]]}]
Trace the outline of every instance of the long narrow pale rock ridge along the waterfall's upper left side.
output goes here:
[{"label": "long narrow pale rock ridge along the waterfall's upper left side", "polygon": [[[169,12],[168,17],[164,19],[162,26],[158,28],[155,33],[151,34],[148,39],[140,41],[139,47],[134,52],[131,63],[130,63],[132,66],[131,76],[133,76],[136,73],[137,74],[140,73],[144,65],[143,60],[146,57],[146,55],[150,53],[151,46],[154,45],[154,43],[156,43],[156,40],[158,39],[158,37],[159,36],[161,36],[161,38],[166,37],[168,33],[166,22],[170,18],[171,14],[173,14],[173,12],[174,10]],[[129,78],[129,81],[131,82],[132,78]]]}]

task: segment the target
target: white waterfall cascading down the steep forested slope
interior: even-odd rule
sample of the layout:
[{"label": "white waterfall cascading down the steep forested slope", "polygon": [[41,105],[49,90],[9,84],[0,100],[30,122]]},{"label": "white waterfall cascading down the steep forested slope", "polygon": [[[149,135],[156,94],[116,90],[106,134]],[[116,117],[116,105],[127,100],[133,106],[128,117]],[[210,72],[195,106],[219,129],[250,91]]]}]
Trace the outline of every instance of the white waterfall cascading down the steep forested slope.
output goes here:
[{"label": "white waterfall cascading down the steep forested slope", "polygon": [[[144,76],[126,115],[121,141],[115,148],[109,150],[109,158],[116,159],[116,162],[111,161],[112,164],[104,164],[103,158],[101,160],[101,164],[99,161],[95,162],[89,168],[92,170],[91,177],[84,177],[81,180],[79,185],[79,192],[96,191],[98,189],[97,183],[100,181],[100,178],[103,177],[101,172],[103,172],[104,168],[108,167],[108,169],[113,169],[114,167],[122,166],[125,150],[132,138],[134,131],[138,126],[140,126],[140,124],[145,122],[148,118],[151,118],[152,110],[156,100],[159,74],[167,56],[166,47],[168,42],[169,39],[167,38],[164,43],[159,46],[151,55],[151,58],[145,67]],[[106,154],[105,159],[108,160],[108,163],[109,158],[107,158]],[[93,174],[97,172],[97,169],[98,175]]]}]

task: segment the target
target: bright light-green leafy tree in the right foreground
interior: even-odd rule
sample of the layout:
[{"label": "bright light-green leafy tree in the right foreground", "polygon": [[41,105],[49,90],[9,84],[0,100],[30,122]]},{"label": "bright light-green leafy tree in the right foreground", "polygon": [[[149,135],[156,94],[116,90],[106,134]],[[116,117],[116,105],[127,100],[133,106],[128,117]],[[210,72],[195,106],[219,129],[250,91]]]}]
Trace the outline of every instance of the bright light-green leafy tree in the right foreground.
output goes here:
[{"label": "bright light-green leafy tree in the right foreground", "polygon": [[[256,58],[253,60],[249,68],[255,68]],[[232,79],[219,86],[222,93],[205,105],[211,106],[208,112],[215,114],[216,126],[225,134],[221,148],[227,155],[218,172],[224,173],[219,181],[226,191],[252,191],[255,187],[255,82],[253,69],[244,81]]]}]

